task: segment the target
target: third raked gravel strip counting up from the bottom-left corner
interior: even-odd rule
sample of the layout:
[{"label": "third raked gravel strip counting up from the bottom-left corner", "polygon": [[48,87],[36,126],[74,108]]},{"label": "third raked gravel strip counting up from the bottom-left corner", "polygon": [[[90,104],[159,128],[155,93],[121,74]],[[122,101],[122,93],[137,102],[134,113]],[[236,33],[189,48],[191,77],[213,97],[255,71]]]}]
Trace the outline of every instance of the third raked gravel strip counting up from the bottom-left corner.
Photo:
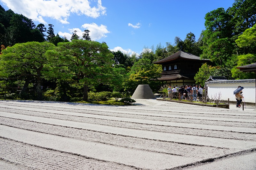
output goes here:
[{"label": "third raked gravel strip counting up from the bottom-left corner", "polygon": [[[15,111],[17,112],[17,110],[14,110],[14,112]],[[137,122],[125,122],[125,121],[98,119],[98,118],[90,118],[90,117],[83,117],[83,116],[62,115],[62,114],[53,114],[53,113],[36,112],[36,111],[24,111],[24,110],[21,110],[20,113],[17,113],[17,114],[39,116],[39,117],[46,117],[46,118],[60,119],[60,120],[68,120],[68,121],[74,121],[74,122],[84,122],[84,123],[92,123],[92,124],[99,124],[99,125],[107,125],[107,126],[129,128],[129,129],[139,129],[139,130],[147,129],[147,130],[156,131],[156,132],[167,132],[167,133],[196,135],[196,136],[204,136],[204,137],[218,137],[218,138],[227,138],[227,139],[239,139],[239,140],[255,140],[256,139],[255,138],[256,134],[250,133],[250,132],[241,133],[241,132],[226,131],[226,130],[166,126],[166,125],[156,125],[156,124],[137,123]],[[231,126],[231,125],[229,125],[229,126]],[[207,128],[207,126],[205,128]]]}]

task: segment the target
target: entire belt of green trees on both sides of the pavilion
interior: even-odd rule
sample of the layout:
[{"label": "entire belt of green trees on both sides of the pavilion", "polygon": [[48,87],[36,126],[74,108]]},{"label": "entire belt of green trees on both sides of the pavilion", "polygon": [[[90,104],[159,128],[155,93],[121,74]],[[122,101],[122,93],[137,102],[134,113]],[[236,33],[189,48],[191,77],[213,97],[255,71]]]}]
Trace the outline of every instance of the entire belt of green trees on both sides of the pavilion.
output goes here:
[{"label": "entire belt of green trees on both sides of the pavilion", "polygon": [[31,19],[0,6],[0,88],[20,89],[23,98],[28,92],[29,99],[56,101],[88,100],[89,91],[131,95],[139,84],[157,92],[162,84],[155,80],[162,68],[152,62],[179,50],[211,60],[199,69],[197,83],[204,84],[209,76],[255,78],[254,73],[236,69],[256,62],[255,5],[255,0],[235,0],[226,10],[206,13],[205,30],[197,40],[189,32],[184,40],[176,36],[165,47],[159,43],[156,49],[144,47],[132,55],[110,52],[106,42],[91,41],[89,30],[84,30],[84,40],[74,31],[69,42],[54,34],[52,24],[46,30],[44,24],[35,26]]}]

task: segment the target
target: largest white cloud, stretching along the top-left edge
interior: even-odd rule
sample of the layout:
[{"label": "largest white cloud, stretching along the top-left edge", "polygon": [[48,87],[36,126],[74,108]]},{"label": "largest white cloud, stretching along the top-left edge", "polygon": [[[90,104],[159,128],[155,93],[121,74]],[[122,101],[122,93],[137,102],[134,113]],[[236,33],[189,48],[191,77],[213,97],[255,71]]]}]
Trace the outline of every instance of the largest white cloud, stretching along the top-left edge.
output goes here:
[{"label": "largest white cloud, stretching along the top-left edge", "polygon": [[[106,7],[103,7],[101,0],[96,6],[91,6],[88,0],[0,0],[15,13],[46,24],[44,17],[58,20],[62,24],[68,24],[70,13],[86,15],[97,18],[106,14]],[[94,1],[91,1],[94,2]]]}]

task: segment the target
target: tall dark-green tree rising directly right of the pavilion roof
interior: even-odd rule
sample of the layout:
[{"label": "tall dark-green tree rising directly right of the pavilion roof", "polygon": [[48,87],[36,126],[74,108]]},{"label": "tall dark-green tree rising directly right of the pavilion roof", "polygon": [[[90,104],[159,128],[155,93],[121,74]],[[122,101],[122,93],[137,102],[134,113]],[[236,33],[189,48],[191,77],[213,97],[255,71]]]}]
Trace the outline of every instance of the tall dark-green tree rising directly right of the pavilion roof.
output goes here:
[{"label": "tall dark-green tree rising directly right of the pavilion roof", "polygon": [[205,28],[203,32],[203,54],[200,57],[210,59],[219,66],[224,66],[232,55],[235,47],[231,41],[231,16],[223,9],[218,8],[205,15]]}]

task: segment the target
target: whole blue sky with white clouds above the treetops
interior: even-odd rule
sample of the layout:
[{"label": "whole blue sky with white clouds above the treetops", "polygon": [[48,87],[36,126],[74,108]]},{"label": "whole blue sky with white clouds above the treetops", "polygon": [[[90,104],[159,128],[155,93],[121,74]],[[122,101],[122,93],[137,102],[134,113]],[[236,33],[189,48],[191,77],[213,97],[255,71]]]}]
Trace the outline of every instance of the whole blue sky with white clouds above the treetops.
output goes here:
[{"label": "whole blue sky with white clouds above the treetops", "polygon": [[35,25],[54,25],[54,33],[82,38],[90,30],[94,41],[110,50],[140,54],[144,47],[173,44],[192,32],[196,40],[204,30],[204,16],[217,8],[231,7],[234,0],[0,0],[5,10],[33,19]]}]

